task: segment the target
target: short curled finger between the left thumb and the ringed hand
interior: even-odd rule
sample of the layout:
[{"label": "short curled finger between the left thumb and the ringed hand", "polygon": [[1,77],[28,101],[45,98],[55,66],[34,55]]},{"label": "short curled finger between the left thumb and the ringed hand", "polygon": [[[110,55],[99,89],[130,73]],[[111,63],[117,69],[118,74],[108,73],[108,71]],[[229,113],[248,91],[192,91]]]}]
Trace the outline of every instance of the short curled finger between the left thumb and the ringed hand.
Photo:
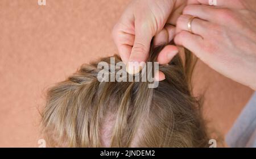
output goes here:
[{"label": "short curled finger between the left thumb and the ringed hand", "polygon": [[170,43],[174,39],[176,28],[171,25],[166,25],[159,34],[154,37],[154,46]]}]

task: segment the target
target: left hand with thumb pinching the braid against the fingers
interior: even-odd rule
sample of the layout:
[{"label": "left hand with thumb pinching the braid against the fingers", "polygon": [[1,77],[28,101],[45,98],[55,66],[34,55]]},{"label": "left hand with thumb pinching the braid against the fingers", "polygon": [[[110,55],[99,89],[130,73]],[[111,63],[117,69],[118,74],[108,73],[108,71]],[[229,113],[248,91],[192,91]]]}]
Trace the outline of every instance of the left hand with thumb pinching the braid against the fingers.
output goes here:
[{"label": "left hand with thumb pinching the braid against the fingers", "polygon": [[[153,36],[154,45],[170,42],[175,35],[175,27],[171,24],[176,24],[186,3],[187,0],[132,1],[113,29],[113,39],[122,61],[126,64],[145,62]],[[168,45],[160,53],[159,64],[167,64],[177,52],[176,46]],[[159,78],[163,80],[164,75],[160,73]]]}]

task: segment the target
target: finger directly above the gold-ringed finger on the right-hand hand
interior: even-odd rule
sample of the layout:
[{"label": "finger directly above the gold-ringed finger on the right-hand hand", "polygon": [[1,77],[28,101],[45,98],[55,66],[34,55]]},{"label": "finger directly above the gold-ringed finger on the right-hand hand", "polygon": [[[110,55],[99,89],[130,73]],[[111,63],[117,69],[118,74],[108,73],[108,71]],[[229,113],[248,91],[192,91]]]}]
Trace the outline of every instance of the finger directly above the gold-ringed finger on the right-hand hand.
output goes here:
[{"label": "finger directly above the gold-ringed finger on the right-hand hand", "polygon": [[189,5],[183,10],[185,15],[196,16],[209,22],[214,22],[218,18],[216,12],[217,10],[214,7],[204,5]]}]

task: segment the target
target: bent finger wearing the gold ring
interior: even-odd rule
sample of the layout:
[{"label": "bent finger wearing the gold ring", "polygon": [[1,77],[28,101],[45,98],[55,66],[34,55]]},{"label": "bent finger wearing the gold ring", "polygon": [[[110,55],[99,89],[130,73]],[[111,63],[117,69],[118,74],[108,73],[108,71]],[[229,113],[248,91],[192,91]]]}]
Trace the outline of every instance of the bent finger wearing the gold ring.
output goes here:
[{"label": "bent finger wearing the gold ring", "polygon": [[202,37],[207,34],[207,27],[210,23],[199,18],[191,18],[193,18],[191,15],[180,15],[179,19],[177,20],[176,33],[180,32],[181,30],[190,31],[188,28],[188,23],[190,20],[192,20],[191,30],[193,34],[197,34]]}]

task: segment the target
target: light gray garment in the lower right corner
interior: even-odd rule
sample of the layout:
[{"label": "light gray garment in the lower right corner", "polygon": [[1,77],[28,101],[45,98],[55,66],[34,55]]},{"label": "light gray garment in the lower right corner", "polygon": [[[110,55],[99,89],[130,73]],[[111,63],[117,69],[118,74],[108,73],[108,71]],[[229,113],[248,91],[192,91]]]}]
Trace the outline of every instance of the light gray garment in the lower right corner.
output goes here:
[{"label": "light gray garment in the lower right corner", "polygon": [[256,92],[226,135],[226,143],[232,148],[256,147]]}]

